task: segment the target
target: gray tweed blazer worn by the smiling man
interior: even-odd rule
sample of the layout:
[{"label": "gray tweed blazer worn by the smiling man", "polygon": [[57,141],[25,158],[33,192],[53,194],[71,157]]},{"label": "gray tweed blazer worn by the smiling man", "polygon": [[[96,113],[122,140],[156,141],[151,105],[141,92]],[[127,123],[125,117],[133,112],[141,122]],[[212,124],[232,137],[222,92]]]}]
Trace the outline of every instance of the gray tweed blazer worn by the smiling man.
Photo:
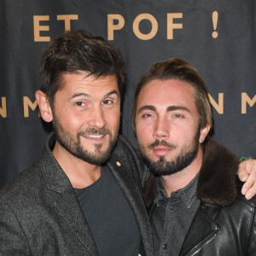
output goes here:
[{"label": "gray tweed blazer worn by the smiling man", "polygon": [[[0,255],[98,255],[73,187],[51,153],[54,143],[51,135],[40,158],[0,192]],[[153,255],[143,163],[123,137],[108,166],[137,219],[142,254]]]}]

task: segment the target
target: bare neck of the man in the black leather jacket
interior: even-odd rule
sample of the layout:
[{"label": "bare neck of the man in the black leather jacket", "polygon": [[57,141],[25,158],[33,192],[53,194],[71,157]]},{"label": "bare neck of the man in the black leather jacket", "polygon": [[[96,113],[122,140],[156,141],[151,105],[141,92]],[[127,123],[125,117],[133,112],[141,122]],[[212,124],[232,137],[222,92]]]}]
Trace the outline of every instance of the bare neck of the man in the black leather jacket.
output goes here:
[{"label": "bare neck of the man in the black leather jacket", "polygon": [[201,169],[202,156],[202,148],[200,146],[195,160],[193,160],[189,166],[180,172],[161,176],[161,181],[168,197],[171,196],[172,192],[177,191],[178,189],[183,189],[192,181]]}]

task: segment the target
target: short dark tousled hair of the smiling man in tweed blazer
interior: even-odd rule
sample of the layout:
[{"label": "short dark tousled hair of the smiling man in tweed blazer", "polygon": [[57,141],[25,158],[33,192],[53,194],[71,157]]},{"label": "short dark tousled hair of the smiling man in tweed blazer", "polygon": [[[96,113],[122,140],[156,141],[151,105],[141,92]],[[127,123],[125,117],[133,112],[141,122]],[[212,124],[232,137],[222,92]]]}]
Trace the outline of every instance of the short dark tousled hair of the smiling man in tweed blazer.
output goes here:
[{"label": "short dark tousled hair of the smiling man in tweed blazer", "polygon": [[83,30],[65,32],[44,50],[39,68],[40,90],[53,107],[54,97],[61,88],[63,73],[81,73],[96,78],[115,75],[121,95],[125,80],[123,57],[118,49],[102,38]]}]

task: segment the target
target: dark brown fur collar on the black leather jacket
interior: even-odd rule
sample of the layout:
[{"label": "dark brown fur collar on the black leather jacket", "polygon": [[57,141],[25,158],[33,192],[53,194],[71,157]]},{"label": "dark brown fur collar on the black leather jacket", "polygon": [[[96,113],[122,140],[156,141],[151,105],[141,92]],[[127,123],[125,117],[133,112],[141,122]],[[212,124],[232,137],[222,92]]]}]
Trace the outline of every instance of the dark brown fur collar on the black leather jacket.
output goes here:
[{"label": "dark brown fur collar on the black leather jacket", "polygon": [[[198,177],[196,195],[200,201],[228,206],[236,200],[236,172],[239,161],[229,149],[209,139],[204,146],[203,163]],[[146,205],[157,195],[156,177],[144,184]]]}]

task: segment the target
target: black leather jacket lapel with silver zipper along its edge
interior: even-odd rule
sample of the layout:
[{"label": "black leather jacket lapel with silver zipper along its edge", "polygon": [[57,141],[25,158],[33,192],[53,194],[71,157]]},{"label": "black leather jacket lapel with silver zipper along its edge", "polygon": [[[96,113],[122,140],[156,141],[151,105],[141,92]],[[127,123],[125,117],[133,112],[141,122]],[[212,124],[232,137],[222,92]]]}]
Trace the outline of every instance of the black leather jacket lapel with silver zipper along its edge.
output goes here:
[{"label": "black leather jacket lapel with silver zipper along its edge", "polygon": [[185,237],[179,256],[195,255],[217,236],[219,230],[218,224],[200,206],[189,227],[189,232]]}]

